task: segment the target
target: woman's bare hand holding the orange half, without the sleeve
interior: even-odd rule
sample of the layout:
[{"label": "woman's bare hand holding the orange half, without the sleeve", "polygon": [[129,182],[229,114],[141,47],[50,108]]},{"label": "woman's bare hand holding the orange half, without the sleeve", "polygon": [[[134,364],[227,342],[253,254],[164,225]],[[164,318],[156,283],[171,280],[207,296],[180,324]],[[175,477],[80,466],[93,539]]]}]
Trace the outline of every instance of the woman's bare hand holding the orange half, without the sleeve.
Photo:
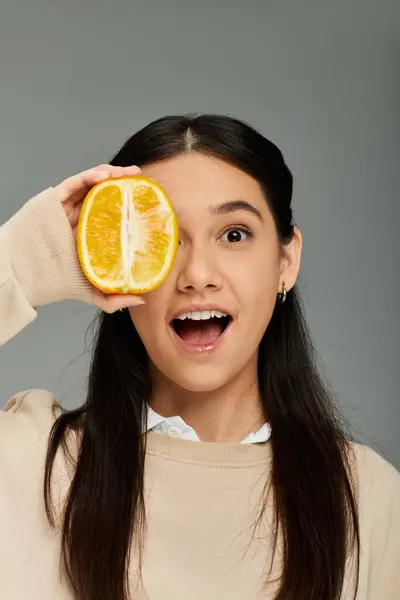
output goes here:
[{"label": "woman's bare hand holding the orange half, without the sleeve", "polygon": [[[113,167],[112,165],[99,165],[78,175],[65,179],[54,188],[71,225],[71,230],[76,237],[79,215],[83,200],[89,190],[100,181],[111,177],[140,175],[139,167]],[[113,313],[128,306],[144,304],[141,296],[128,294],[104,294],[93,287],[93,304],[104,312]]]}]

